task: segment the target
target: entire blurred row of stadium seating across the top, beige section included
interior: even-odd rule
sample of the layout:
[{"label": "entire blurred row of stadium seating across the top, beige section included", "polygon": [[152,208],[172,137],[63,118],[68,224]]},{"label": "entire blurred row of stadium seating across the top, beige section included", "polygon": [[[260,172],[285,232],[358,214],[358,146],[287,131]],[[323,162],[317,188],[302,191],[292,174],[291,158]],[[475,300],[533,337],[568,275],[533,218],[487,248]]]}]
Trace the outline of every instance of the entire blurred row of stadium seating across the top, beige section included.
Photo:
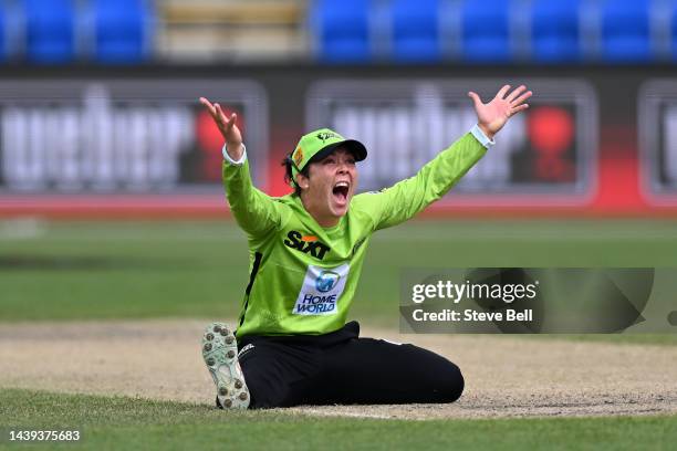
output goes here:
[{"label": "entire blurred row of stadium seating across the top, beige section included", "polygon": [[642,64],[677,61],[677,0],[0,0],[0,62],[138,64],[155,42],[179,60]]}]

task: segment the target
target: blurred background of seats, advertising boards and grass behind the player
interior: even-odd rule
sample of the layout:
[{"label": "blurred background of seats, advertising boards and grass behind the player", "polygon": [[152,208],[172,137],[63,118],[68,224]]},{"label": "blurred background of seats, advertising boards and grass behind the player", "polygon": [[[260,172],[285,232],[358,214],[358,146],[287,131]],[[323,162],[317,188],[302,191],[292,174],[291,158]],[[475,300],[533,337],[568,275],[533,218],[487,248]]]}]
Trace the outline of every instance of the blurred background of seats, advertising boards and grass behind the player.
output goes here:
[{"label": "blurred background of seats, advertising boards and grass behind the player", "polygon": [[310,129],[365,143],[378,189],[475,124],[468,91],[534,92],[375,239],[366,317],[396,318],[407,265],[674,265],[676,63],[677,0],[2,0],[0,318],[235,315],[246,242],[199,96],[279,196]]}]

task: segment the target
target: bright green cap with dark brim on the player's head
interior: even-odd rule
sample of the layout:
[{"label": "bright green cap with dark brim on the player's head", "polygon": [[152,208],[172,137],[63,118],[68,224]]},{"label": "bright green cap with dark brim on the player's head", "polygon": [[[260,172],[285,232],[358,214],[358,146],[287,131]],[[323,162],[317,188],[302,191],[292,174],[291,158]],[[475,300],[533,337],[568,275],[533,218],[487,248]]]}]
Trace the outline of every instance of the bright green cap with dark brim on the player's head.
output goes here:
[{"label": "bright green cap with dark brim on the player's head", "polygon": [[320,128],[303,135],[295,150],[291,155],[293,181],[296,175],[305,168],[309,162],[319,161],[330,155],[336,147],[345,147],[355,156],[355,161],[366,158],[366,148],[355,139],[345,139],[336,132],[329,128]]}]

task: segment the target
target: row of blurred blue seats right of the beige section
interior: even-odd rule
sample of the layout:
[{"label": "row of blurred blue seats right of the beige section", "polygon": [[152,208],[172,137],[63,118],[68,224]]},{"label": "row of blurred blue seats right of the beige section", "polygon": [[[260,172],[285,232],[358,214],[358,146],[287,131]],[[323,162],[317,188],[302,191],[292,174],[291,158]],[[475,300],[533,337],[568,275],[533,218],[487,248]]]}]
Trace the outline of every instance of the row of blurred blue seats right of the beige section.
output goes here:
[{"label": "row of blurred blue seats right of the beige section", "polygon": [[[663,38],[655,32],[662,25],[652,15],[652,8],[660,3],[671,8],[671,21],[665,20],[669,35],[665,25]],[[667,54],[667,41],[677,59],[676,0],[319,0],[312,4],[323,28],[316,40],[323,61],[375,60],[374,42],[384,36],[374,4],[388,9],[385,56],[395,62],[444,61],[450,57],[445,49],[454,46],[458,50],[454,54],[466,62],[510,63],[528,54],[537,63],[567,64],[590,56],[590,61],[647,63]],[[450,4],[459,20],[440,20]],[[450,23],[457,30],[449,30]],[[459,36],[458,42],[450,45],[449,35]]]}]

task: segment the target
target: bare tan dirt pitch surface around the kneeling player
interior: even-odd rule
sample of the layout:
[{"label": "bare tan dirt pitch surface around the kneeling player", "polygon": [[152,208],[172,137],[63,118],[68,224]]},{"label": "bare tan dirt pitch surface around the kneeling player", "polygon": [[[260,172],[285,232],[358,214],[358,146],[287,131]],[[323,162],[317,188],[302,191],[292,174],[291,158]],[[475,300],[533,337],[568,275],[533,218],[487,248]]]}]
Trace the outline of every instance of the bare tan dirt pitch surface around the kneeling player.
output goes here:
[{"label": "bare tan dirt pitch surface around the kneeling player", "polygon": [[[0,388],[192,401],[215,389],[197,321],[0,325]],[[457,363],[466,391],[452,405],[298,407],[365,418],[488,418],[677,413],[677,349],[509,336],[362,336],[414,343]],[[412,384],[416,384],[415,380]]]}]

